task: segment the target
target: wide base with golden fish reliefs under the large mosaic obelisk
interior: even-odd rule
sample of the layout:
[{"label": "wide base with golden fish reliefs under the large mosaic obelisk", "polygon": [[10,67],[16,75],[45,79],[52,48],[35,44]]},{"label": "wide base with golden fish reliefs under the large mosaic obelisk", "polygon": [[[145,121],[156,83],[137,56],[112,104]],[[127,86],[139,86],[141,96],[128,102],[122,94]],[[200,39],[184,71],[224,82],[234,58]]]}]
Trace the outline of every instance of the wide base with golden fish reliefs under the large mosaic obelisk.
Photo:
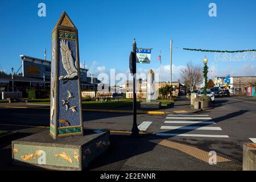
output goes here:
[{"label": "wide base with golden fish reliefs under the large mosaic obelisk", "polygon": [[11,142],[13,164],[81,171],[110,144],[109,131],[52,139],[49,131]]}]

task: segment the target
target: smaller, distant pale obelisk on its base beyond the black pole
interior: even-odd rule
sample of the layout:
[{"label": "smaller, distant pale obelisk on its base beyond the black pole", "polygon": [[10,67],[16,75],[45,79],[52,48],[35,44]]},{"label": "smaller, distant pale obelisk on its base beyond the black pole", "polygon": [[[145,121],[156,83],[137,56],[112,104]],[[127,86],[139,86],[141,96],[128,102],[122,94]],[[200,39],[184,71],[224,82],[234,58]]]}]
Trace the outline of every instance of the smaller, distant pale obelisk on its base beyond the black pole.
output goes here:
[{"label": "smaller, distant pale obelisk on its base beyond the black pole", "polygon": [[146,102],[141,102],[141,108],[144,109],[160,109],[161,102],[156,102],[156,89],[155,89],[155,73],[150,69],[147,73],[147,94]]}]

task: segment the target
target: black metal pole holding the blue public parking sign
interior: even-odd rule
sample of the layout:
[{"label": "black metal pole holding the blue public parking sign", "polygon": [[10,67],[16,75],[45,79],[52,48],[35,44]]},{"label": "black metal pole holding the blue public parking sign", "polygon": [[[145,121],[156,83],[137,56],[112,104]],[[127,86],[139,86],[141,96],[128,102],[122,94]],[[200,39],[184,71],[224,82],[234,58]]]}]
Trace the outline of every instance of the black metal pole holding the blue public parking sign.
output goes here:
[{"label": "black metal pole holding the blue public parking sign", "polygon": [[[136,55],[136,42],[133,40],[133,53]],[[135,56],[134,56],[135,57]],[[136,58],[136,57],[135,57]],[[134,73],[133,73],[133,129],[131,129],[132,136],[139,136],[139,129],[137,126],[137,96],[136,96],[136,59],[133,59]]]}]

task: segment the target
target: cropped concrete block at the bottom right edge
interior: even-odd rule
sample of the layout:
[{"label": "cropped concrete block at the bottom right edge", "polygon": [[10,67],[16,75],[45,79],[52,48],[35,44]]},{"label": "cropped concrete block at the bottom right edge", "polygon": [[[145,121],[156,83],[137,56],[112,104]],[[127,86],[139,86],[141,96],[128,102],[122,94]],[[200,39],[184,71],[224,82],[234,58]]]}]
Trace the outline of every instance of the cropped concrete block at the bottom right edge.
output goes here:
[{"label": "cropped concrete block at the bottom right edge", "polygon": [[256,171],[256,143],[243,144],[243,171]]}]

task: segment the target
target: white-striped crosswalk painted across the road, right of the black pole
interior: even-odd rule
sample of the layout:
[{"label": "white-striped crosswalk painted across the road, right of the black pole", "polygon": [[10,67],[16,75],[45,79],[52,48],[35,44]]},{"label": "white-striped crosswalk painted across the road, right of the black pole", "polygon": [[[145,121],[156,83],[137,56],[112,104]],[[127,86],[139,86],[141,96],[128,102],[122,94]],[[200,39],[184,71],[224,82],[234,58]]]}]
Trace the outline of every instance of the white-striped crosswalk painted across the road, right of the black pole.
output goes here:
[{"label": "white-striped crosswalk painted across the road, right of the black pole", "polygon": [[168,114],[158,136],[229,138],[207,114]]}]

